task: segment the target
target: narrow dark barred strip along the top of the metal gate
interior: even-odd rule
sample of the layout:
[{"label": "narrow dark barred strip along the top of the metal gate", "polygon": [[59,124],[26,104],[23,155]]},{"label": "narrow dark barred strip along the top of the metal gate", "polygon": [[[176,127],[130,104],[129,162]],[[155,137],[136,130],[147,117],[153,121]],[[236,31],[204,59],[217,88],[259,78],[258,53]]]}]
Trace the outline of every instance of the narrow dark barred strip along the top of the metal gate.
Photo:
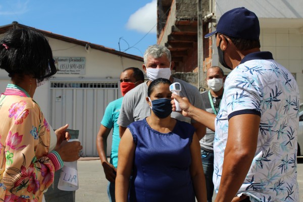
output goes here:
[{"label": "narrow dark barred strip along the top of the metal gate", "polygon": [[51,82],[51,88],[118,88],[117,82]]}]

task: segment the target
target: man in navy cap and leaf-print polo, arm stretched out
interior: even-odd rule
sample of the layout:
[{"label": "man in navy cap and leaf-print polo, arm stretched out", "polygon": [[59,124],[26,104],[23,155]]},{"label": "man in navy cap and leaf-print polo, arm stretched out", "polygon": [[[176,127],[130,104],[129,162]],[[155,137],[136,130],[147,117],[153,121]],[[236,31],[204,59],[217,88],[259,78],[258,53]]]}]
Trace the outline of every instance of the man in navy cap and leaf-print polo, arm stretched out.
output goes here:
[{"label": "man in navy cap and leaf-print polo, arm stretched out", "polygon": [[[215,201],[299,201],[296,180],[299,90],[270,52],[260,51],[255,13],[236,8],[220,18],[220,63],[231,69],[217,116],[173,94],[182,114],[215,131]],[[172,100],[175,111],[174,100]]]}]

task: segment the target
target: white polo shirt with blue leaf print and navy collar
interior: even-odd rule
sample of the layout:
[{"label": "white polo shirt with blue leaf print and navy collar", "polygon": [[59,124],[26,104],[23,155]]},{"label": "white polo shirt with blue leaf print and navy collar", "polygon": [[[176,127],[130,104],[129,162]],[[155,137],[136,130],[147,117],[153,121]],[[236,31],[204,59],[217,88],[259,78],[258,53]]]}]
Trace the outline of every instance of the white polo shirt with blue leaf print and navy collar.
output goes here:
[{"label": "white polo shirt with blue leaf print and navy collar", "polygon": [[257,150],[238,194],[249,195],[251,201],[299,201],[298,110],[299,88],[292,74],[274,61],[270,52],[245,56],[225,80],[215,120],[216,192],[222,175],[228,120],[235,115],[257,114],[261,117]]}]

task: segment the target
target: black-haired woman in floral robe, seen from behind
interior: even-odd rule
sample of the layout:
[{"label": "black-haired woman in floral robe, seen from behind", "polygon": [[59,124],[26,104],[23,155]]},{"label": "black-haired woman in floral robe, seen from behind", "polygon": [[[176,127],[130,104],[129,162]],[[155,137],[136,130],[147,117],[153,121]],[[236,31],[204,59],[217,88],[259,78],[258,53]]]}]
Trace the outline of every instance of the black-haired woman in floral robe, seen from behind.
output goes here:
[{"label": "black-haired woman in floral robe, seen from behind", "polygon": [[33,99],[56,73],[51,47],[33,29],[9,30],[0,41],[0,68],[12,78],[0,96],[0,201],[42,201],[63,161],[79,159],[68,125],[54,130]]}]

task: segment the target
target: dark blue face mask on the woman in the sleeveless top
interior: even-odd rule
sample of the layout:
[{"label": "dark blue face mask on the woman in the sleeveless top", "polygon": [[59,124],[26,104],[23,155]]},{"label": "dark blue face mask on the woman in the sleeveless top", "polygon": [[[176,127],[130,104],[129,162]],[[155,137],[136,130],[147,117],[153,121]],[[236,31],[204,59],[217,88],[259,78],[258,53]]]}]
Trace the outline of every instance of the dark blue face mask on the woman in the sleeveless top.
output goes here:
[{"label": "dark blue face mask on the woman in the sleeveless top", "polygon": [[172,113],[171,99],[160,98],[154,99],[153,101],[151,101],[149,97],[148,99],[149,102],[151,102],[150,109],[153,110],[157,117],[164,119]]}]

